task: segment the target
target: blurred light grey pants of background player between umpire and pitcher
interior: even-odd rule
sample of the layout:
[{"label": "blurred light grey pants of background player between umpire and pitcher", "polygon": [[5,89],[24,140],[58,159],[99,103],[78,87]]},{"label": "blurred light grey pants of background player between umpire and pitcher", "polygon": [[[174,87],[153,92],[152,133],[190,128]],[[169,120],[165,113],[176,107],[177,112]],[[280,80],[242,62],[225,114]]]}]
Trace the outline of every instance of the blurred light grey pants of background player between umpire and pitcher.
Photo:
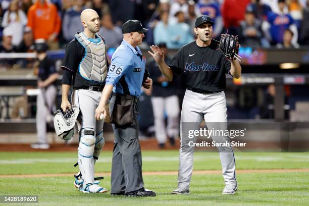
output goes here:
[{"label": "blurred light grey pants of background player between umpire and pitcher", "polygon": [[[151,97],[153,116],[155,117],[155,132],[158,143],[165,143],[167,136],[176,137],[179,132],[179,101],[177,95],[168,97]],[[167,114],[165,129],[164,112]]]}]

